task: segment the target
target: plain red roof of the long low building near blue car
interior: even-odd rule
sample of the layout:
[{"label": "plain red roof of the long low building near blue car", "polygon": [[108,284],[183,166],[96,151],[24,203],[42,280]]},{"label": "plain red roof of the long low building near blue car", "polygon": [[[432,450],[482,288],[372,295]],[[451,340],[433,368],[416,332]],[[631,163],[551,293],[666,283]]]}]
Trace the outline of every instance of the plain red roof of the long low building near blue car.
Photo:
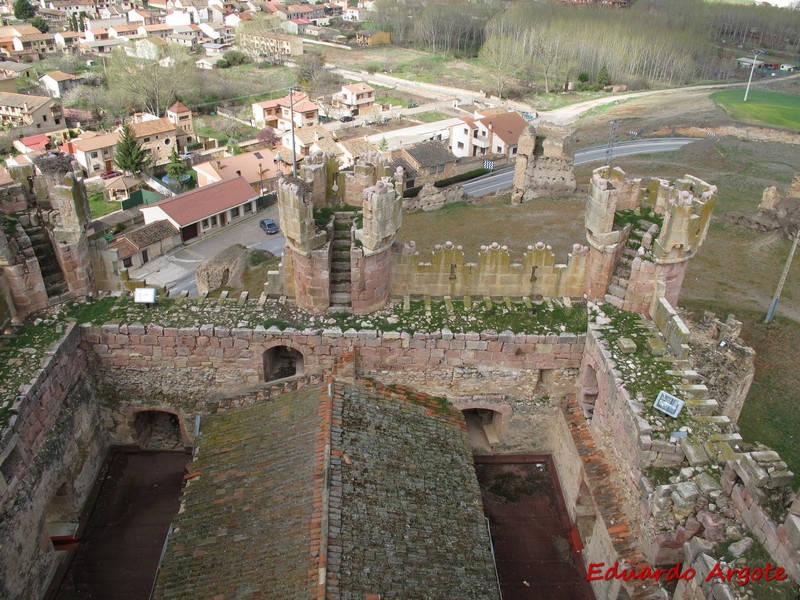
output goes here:
[{"label": "plain red roof of the long low building near blue car", "polygon": [[158,206],[178,225],[184,227],[202,221],[234,206],[240,206],[248,200],[258,197],[244,177],[226,179],[212,183],[190,192],[185,192],[167,200],[161,200],[149,207]]}]

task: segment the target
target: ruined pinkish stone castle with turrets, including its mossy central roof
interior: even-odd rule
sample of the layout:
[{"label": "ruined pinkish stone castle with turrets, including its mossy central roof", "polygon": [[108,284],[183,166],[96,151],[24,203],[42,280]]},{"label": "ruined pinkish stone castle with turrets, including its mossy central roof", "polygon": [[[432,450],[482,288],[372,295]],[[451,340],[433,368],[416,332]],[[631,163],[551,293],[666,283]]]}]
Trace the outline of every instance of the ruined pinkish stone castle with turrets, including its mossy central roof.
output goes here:
[{"label": "ruined pinkish stone castle with turrets, including its mossy central roof", "polygon": [[[6,212],[27,213],[10,237],[8,229],[0,233],[6,320],[123,288],[113,278],[113,253],[87,240],[80,177],[63,164],[54,173],[42,166],[14,174],[17,183],[3,196]],[[275,597],[398,597],[391,579],[397,570],[412,582],[409,594],[492,597],[489,541],[459,411],[480,411],[495,452],[552,456],[586,565],[680,561],[700,575],[680,581],[674,598],[733,597],[735,586],[704,575],[716,564],[715,544],[750,536],[800,581],[793,475],[774,452],[743,450],[735,422],[747,385],[705,384],[691,361],[693,334],[675,308],[687,261],[707,235],[716,188],[690,176],[640,180],[596,169],[586,245],[575,244],[561,264],[544,243],[531,243],[519,262],[499,243],[474,258],[451,242],[416,253],[396,242],[402,181],[379,156],[364,157],[351,173],[338,172],[329,157],[312,157],[300,177],[279,182],[286,250],[261,298],[183,300],[146,313],[120,297],[109,322],[64,325],[4,413],[5,597],[45,593],[63,554],[50,540],[77,527],[107,448],[141,444],[165,415],[174,419],[177,440],[196,453],[156,597],[192,595],[181,576],[188,571],[221,585],[219,593],[233,581],[241,589],[242,582],[273,581],[266,563],[261,571],[227,572],[213,562],[224,553],[240,556],[235,542],[260,531],[257,520],[255,529],[230,515],[215,533],[202,526],[223,518],[209,513],[212,506],[260,510],[247,491],[248,469],[279,477],[275,485],[285,479],[297,486],[285,493],[295,499],[302,527],[258,545],[266,552],[270,543],[285,544],[286,556],[295,557],[278,565],[291,577],[275,575],[270,585],[289,586]],[[321,226],[315,221],[315,209],[343,201],[359,210],[337,212]],[[30,249],[30,230],[42,225],[63,280],[58,288],[48,283],[56,273],[43,266],[45,254]],[[296,322],[270,316],[287,305]],[[583,329],[534,324],[532,315],[571,310],[588,313]],[[395,326],[414,311],[444,318],[436,327]],[[482,321],[515,314],[521,325]],[[752,378],[739,327],[711,319],[707,351],[723,352],[716,342],[725,340],[730,355],[726,350],[720,360],[740,360]],[[685,401],[677,420],[653,409],[659,390]],[[246,429],[258,423],[274,423],[277,446],[266,438],[231,446],[217,437],[228,429],[243,436],[237,440],[260,440]],[[274,470],[279,448],[296,468]],[[249,467],[237,472],[227,456]],[[656,481],[658,469],[670,478]],[[381,516],[381,502],[415,497],[419,477],[441,483],[424,491],[429,510],[410,500]],[[448,501],[453,497],[460,503]],[[285,521],[292,507],[279,499],[271,500],[276,514],[261,518]],[[403,511],[413,518],[398,531],[424,522],[425,535],[391,555],[370,546],[374,520],[397,523]],[[454,523],[457,532],[448,533]],[[600,579],[592,586],[598,598],[666,597],[654,581]]]}]

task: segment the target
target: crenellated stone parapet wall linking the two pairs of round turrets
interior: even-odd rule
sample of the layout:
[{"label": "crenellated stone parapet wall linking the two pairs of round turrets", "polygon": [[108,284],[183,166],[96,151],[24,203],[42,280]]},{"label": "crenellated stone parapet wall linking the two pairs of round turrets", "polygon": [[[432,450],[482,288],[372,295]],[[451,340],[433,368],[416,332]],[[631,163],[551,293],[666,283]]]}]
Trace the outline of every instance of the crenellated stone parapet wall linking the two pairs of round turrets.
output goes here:
[{"label": "crenellated stone parapet wall linking the two pairs of round turrets", "polygon": [[396,247],[392,261],[392,296],[581,297],[588,249],[576,244],[566,265],[555,263],[552,248],[528,246],[519,263],[507,246],[482,246],[476,263],[466,262],[461,246],[438,245],[424,260],[413,243]]}]

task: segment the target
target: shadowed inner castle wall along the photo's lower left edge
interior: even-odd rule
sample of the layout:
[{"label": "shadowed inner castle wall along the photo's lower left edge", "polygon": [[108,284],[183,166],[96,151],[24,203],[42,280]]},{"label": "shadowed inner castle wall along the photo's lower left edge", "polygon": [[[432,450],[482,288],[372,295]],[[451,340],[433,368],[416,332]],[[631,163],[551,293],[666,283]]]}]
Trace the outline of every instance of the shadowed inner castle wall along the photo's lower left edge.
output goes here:
[{"label": "shadowed inner castle wall along the photo's lower left edge", "polygon": [[[81,334],[69,325],[61,343],[23,386],[0,440],[0,596],[41,598],[66,553],[51,528],[74,533],[108,444],[101,402],[87,373]],[[51,501],[58,494],[57,509]],[[52,533],[56,533],[53,529]]]}]

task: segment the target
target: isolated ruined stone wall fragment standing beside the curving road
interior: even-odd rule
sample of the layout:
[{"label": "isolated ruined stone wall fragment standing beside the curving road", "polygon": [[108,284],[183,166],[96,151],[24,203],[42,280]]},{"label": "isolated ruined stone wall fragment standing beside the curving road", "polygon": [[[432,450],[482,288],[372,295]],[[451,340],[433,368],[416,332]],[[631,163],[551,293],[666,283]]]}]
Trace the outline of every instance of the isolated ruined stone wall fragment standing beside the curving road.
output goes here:
[{"label": "isolated ruined stone wall fragment standing beside the curving road", "polygon": [[517,148],[512,204],[575,192],[574,131],[550,123],[541,123],[536,129],[529,125]]}]

